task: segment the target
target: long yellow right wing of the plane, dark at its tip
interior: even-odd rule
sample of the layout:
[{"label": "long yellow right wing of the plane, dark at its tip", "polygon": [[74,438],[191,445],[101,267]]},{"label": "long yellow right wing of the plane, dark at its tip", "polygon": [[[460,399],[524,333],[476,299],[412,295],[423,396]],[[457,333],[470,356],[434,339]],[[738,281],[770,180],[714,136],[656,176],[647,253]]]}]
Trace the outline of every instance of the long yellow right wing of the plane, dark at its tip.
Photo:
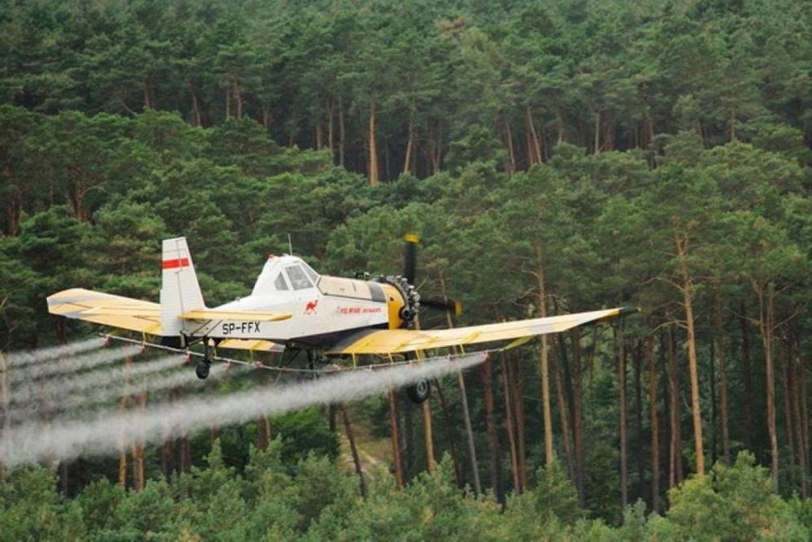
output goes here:
[{"label": "long yellow right wing of the plane, dark at its tip", "polygon": [[403,353],[415,350],[474,345],[565,332],[573,327],[613,318],[636,309],[619,308],[562,314],[546,318],[489,323],[454,329],[365,330],[349,336],[327,351],[330,354]]}]

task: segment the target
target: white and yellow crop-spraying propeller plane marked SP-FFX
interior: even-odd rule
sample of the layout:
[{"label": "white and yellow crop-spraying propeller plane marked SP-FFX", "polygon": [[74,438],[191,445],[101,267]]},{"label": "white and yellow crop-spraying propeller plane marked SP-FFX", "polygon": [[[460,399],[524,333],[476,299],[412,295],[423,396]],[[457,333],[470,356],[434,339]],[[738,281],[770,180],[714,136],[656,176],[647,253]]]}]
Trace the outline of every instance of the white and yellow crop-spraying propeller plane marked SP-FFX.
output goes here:
[{"label": "white and yellow crop-spraying propeller plane marked SP-FFX", "polygon": [[[160,302],[141,301],[83,288],[48,297],[48,310],[71,319],[117,327],[142,336],[159,336],[161,344],[188,348],[202,343],[205,355],[197,376],[209,375],[211,347],[292,352],[329,356],[413,354],[425,349],[465,347],[564,332],[620,316],[634,309],[616,308],[503,323],[419,330],[413,328],[420,296],[414,288],[417,236],[406,236],[404,275],[373,280],[319,275],[301,258],[270,255],[253,291],[214,308],[203,301],[185,237],[162,243]],[[456,303],[425,300],[424,306],[451,310]],[[425,401],[427,382],[408,388],[412,401]]]}]

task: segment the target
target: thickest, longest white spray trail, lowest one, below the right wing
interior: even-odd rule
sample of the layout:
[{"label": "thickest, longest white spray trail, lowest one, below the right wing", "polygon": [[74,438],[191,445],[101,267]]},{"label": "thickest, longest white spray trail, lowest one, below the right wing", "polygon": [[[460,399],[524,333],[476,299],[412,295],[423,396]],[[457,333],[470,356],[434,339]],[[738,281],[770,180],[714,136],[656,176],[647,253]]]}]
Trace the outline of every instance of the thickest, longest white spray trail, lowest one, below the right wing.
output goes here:
[{"label": "thickest, longest white spray trail, lowest one, below the right wing", "polygon": [[414,384],[420,379],[463,371],[484,362],[487,355],[476,352],[374,371],[346,371],[308,383],[263,387],[224,397],[186,399],[141,411],[113,411],[95,419],[25,423],[2,434],[0,462],[14,466],[41,460],[66,460],[84,454],[117,453],[132,444],[158,444],[215,423],[222,427],[310,405],[355,401]]}]

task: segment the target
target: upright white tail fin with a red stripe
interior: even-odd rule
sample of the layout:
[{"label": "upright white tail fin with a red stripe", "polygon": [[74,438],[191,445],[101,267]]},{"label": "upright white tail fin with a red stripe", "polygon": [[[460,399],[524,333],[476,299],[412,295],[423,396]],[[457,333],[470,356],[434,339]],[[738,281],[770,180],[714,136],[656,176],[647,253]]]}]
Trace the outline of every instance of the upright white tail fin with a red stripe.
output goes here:
[{"label": "upright white tail fin with a red stripe", "polygon": [[161,334],[179,338],[184,331],[180,314],[205,309],[186,237],[165,239],[162,246]]}]

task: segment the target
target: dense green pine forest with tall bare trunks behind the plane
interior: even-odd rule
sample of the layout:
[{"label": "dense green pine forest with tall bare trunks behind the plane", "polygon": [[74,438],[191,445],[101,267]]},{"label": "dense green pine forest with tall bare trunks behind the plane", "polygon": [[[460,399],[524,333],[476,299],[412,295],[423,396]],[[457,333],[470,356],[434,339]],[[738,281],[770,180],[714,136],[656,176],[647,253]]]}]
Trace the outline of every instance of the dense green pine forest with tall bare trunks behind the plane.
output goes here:
[{"label": "dense green pine forest with tall bare trunks behind the plane", "polygon": [[392,274],[416,232],[421,295],[464,306],[424,327],[641,309],[439,379],[429,418],[0,457],[0,540],[809,540],[810,43],[790,0],[0,0],[2,353],[98,332],[60,289],[157,301],[171,236],[209,306],[289,243]]}]

